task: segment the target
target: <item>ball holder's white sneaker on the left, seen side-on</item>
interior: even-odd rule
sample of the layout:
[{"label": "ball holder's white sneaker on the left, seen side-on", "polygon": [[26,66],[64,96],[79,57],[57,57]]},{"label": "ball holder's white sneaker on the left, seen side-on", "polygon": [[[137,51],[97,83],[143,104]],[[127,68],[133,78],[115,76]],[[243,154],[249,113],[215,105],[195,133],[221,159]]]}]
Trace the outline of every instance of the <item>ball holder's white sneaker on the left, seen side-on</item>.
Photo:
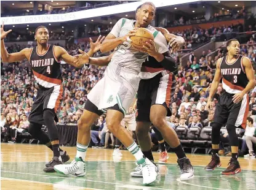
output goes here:
[{"label": "ball holder's white sneaker on the left, seen side-on", "polygon": [[86,163],[82,161],[82,158],[74,158],[70,164],[55,165],[54,170],[64,175],[72,174],[76,176],[86,175]]}]

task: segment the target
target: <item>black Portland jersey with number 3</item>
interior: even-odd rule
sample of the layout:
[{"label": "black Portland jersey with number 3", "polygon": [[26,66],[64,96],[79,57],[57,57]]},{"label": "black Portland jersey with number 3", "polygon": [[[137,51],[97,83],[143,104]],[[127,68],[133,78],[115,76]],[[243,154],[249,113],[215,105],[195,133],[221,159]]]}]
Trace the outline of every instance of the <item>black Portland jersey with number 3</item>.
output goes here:
[{"label": "black Portland jersey with number 3", "polygon": [[238,59],[231,64],[227,63],[227,57],[224,56],[220,62],[222,85],[227,93],[236,94],[246,88],[249,83],[244,66],[242,66],[242,58],[244,56],[238,55]]}]

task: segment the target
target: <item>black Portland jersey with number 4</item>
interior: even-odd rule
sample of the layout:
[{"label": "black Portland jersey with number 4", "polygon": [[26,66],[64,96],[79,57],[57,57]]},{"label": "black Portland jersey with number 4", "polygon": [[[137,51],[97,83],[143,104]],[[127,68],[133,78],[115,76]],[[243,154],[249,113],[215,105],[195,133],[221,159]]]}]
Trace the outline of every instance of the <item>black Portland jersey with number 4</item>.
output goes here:
[{"label": "black Portland jersey with number 4", "polygon": [[62,84],[60,61],[54,55],[54,45],[48,45],[44,55],[39,55],[38,47],[31,50],[30,64],[36,82],[45,88]]}]

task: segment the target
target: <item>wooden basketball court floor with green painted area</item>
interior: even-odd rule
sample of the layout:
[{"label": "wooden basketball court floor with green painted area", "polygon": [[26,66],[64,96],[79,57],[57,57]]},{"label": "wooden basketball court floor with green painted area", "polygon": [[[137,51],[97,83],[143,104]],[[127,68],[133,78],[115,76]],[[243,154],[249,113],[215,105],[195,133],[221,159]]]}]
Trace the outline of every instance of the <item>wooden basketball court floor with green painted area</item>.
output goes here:
[{"label": "wooden basketball court floor with green painted area", "polygon": [[[73,160],[76,147],[63,147]],[[204,166],[210,156],[188,154],[194,166],[195,177],[180,181],[177,157],[169,153],[168,164],[159,164],[160,175],[151,186],[143,186],[142,178],[130,177],[134,171],[134,157],[122,151],[121,158],[113,158],[113,150],[90,148],[86,156],[86,176],[64,176],[59,173],[45,173],[44,164],[52,159],[52,152],[44,145],[1,143],[1,189],[256,189],[256,159],[239,158],[242,172],[224,176],[223,168],[206,172]],[[159,153],[154,153],[158,161]],[[221,157],[226,167],[230,157]]]}]

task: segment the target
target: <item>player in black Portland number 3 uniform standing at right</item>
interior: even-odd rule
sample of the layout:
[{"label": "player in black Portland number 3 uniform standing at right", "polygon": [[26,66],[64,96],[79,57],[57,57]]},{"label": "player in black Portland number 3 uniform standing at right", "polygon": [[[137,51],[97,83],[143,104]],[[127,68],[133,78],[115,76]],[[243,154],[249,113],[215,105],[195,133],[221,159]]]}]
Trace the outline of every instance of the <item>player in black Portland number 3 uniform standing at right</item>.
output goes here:
[{"label": "player in black Portland number 3 uniform standing at right", "polygon": [[220,95],[212,123],[212,160],[206,170],[214,170],[221,165],[218,157],[218,144],[220,143],[220,128],[225,126],[230,137],[232,158],[228,168],[222,172],[224,175],[234,175],[241,172],[238,162],[239,140],[236,127],[246,128],[246,119],[249,112],[248,92],[255,86],[254,69],[247,57],[239,55],[240,44],[238,40],[231,39],[226,43],[228,55],[218,59],[216,72],[210,96],[206,107],[210,107],[220,78],[224,93]]}]

